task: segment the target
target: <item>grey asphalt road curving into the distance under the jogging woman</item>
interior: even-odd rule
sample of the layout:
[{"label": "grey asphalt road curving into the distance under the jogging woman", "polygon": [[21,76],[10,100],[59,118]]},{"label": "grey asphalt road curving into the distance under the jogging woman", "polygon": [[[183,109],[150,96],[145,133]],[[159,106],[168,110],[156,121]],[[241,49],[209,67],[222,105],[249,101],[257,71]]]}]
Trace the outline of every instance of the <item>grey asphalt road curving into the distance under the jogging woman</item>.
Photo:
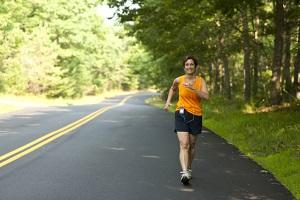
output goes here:
[{"label": "grey asphalt road curving into the distance under the jogging woman", "polygon": [[[209,130],[199,137],[191,185],[183,186],[173,114],[146,105],[151,95],[135,95],[0,167],[0,200],[294,199],[270,173]],[[0,155],[123,98],[2,115]]]}]

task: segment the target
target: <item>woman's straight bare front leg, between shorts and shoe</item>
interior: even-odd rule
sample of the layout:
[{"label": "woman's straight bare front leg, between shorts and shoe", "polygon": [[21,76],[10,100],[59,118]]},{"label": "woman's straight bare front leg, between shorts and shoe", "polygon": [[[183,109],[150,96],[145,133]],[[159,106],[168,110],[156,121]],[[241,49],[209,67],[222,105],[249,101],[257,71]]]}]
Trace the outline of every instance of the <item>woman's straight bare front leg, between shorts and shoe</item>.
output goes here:
[{"label": "woman's straight bare front leg, between shorts and shoe", "polygon": [[189,166],[190,134],[188,132],[177,132],[179,140],[179,161],[182,171],[186,171]]}]

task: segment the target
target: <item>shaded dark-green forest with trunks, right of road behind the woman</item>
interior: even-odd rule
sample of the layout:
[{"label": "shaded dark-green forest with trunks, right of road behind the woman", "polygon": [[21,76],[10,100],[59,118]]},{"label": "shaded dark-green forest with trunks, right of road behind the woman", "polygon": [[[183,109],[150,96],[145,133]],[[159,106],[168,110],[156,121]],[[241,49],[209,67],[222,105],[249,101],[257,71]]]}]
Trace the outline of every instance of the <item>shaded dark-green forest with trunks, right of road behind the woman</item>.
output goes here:
[{"label": "shaded dark-green forest with trunks, right of road behind the woman", "polygon": [[[299,92],[300,7],[284,0],[110,1],[151,52],[156,85],[182,73],[186,54],[200,60],[212,94],[255,105],[294,102]],[[154,68],[155,68],[154,67]],[[161,78],[163,77],[163,81]],[[298,94],[299,95],[299,94]]]}]

